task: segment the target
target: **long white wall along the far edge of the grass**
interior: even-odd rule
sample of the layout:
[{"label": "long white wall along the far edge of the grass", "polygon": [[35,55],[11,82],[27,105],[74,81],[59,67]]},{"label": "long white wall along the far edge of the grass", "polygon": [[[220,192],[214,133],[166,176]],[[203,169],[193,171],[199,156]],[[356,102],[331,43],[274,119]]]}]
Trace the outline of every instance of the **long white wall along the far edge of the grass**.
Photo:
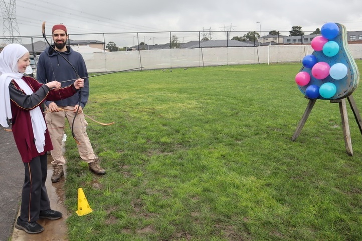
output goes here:
[{"label": "long white wall along the far edge of the grass", "polygon": [[[362,59],[362,44],[352,44],[348,47],[354,59]],[[88,72],[97,73],[137,67],[147,70],[301,62],[305,55],[312,52],[310,45],[279,45],[82,53],[82,56]]]}]

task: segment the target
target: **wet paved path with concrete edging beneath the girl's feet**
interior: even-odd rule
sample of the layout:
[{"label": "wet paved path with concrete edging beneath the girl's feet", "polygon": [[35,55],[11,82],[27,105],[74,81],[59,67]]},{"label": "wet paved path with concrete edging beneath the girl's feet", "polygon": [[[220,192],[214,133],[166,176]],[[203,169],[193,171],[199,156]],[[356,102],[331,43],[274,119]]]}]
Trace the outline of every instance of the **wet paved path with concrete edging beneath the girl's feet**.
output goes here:
[{"label": "wet paved path with concrete edging beneath the girl's feet", "polygon": [[46,187],[51,208],[61,211],[63,217],[58,220],[39,220],[44,231],[38,234],[28,234],[23,230],[14,228],[16,218],[19,216],[22,185],[24,182],[24,165],[18,149],[14,143],[12,132],[0,130],[0,241],[67,241],[66,219],[67,210],[64,206],[64,180],[52,183],[50,177],[53,173],[52,157],[48,155],[48,178]]}]

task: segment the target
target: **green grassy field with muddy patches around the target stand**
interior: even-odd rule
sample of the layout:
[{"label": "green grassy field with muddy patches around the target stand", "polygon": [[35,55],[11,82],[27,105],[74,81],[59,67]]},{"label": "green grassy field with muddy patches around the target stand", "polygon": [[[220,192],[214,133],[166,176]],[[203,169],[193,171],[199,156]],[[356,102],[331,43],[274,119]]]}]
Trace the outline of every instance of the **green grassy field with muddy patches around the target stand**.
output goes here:
[{"label": "green grassy field with muddy patches around the target stand", "polygon": [[[348,156],[338,104],[318,100],[291,141],[308,103],[300,68],[91,78],[86,114],[115,124],[89,120],[103,177],[67,141],[69,240],[362,240],[362,135],[348,105]],[[362,110],[360,88],[353,97]],[[78,187],[93,209],[84,216]]]}]

